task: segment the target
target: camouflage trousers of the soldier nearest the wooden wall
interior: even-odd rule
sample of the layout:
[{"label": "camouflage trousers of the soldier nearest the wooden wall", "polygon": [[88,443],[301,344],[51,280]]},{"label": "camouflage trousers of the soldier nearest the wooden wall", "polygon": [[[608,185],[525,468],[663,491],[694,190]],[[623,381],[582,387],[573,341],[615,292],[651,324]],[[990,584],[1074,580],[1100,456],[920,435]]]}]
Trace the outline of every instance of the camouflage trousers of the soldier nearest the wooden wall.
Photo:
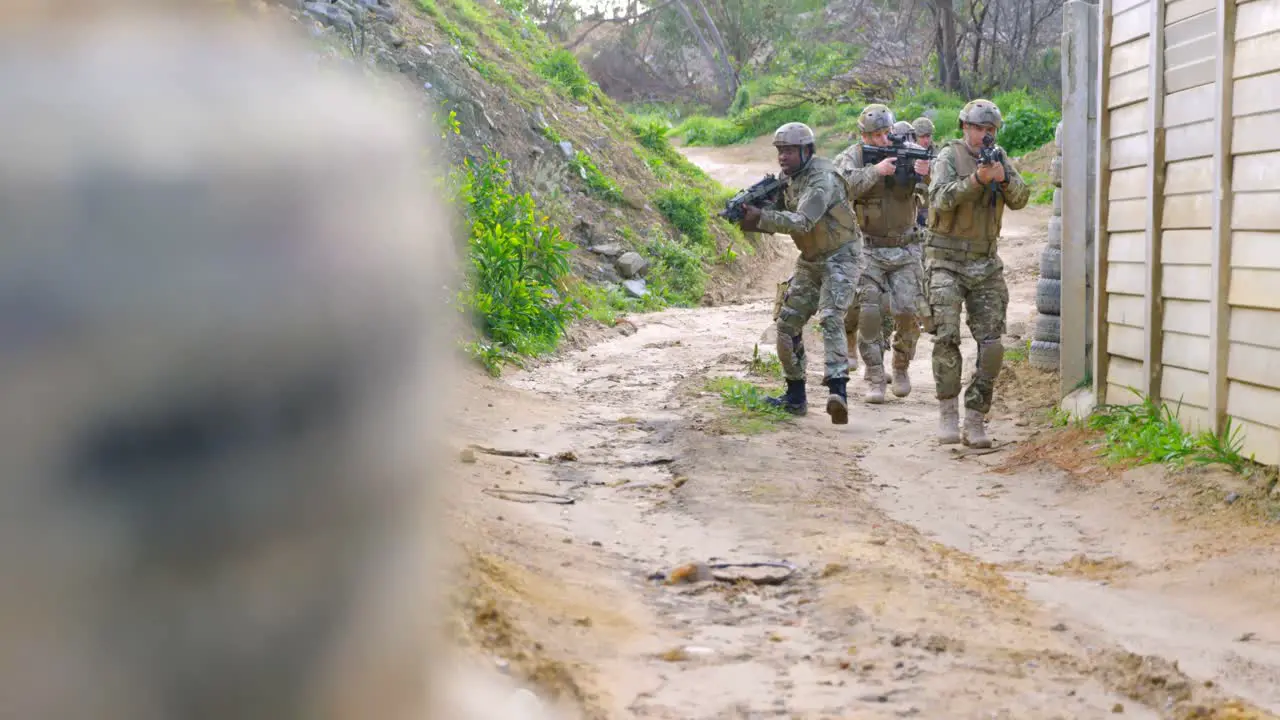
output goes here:
[{"label": "camouflage trousers of the soldier nearest the wooden wall", "polygon": [[964,265],[937,264],[929,268],[929,304],[933,306],[933,379],[938,400],[960,395],[960,307],[964,306],[969,332],[978,343],[978,359],[964,406],[986,414],[996,378],[1005,361],[1005,313],[1009,309],[1009,286],[1000,258]]}]

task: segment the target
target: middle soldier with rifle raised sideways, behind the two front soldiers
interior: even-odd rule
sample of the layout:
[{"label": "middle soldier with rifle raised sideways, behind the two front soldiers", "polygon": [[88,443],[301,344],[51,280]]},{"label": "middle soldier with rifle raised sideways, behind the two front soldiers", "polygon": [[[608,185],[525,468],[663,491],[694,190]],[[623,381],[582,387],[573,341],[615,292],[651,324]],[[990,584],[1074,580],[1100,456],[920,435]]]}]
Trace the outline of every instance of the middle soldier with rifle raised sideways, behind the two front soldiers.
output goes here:
[{"label": "middle soldier with rifle raised sideways, behind the two front soldiers", "polygon": [[[893,114],[884,105],[868,105],[858,118],[861,142],[836,156],[836,167],[849,182],[849,195],[863,232],[863,268],[858,281],[858,350],[867,365],[867,402],[884,402],[884,350],[890,332],[882,322],[892,316],[893,395],[911,392],[908,368],[920,337],[919,316],[924,311],[924,269],[915,233],[915,186],[900,187],[893,181],[897,160],[887,158],[876,165],[863,164],[863,143],[888,146]],[[916,160],[913,168],[928,177],[929,164]],[[886,313],[884,310],[888,310]],[[847,323],[847,319],[846,319]]]}]

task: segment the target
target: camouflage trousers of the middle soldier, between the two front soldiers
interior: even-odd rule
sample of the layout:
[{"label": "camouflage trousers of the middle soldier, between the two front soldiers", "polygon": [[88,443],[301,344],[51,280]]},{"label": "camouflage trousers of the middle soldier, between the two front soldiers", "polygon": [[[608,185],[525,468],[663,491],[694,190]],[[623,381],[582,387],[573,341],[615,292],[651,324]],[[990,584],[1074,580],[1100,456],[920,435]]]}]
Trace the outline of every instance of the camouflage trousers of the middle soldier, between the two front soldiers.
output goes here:
[{"label": "camouflage trousers of the middle soldier, between the two front soldiers", "polygon": [[895,368],[906,368],[915,357],[920,316],[928,310],[923,254],[919,245],[863,249],[858,302],[845,315],[845,333],[858,332],[858,351],[868,368],[884,364],[891,338]]}]

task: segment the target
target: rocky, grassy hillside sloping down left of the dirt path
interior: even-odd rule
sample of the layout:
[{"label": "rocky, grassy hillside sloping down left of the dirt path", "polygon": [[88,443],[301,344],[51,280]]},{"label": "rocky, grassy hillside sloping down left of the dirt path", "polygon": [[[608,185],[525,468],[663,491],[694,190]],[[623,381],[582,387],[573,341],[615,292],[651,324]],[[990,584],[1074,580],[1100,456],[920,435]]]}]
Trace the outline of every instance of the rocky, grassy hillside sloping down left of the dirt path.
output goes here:
[{"label": "rocky, grassy hillside sloping down left of the dirt path", "polygon": [[448,192],[466,218],[458,309],[476,333],[465,346],[492,372],[554,350],[575,322],[696,305],[753,252],[714,217],[732,191],[671,147],[666,122],[605,97],[516,4],[383,0],[361,17],[328,8],[340,14],[294,17],[330,59],[419,88],[440,126]]}]

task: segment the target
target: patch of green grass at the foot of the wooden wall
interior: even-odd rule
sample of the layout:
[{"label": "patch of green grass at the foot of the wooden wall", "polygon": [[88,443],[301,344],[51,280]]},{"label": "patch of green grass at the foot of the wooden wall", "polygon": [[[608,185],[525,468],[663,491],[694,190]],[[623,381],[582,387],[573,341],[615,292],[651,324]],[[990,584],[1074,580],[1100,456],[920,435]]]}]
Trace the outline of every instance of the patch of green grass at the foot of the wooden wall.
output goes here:
[{"label": "patch of green grass at the foot of the wooden wall", "polygon": [[[1134,388],[1130,392],[1142,397]],[[1183,468],[1222,465],[1235,473],[1254,466],[1253,456],[1244,457],[1244,434],[1230,419],[1220,434],[1187,430],[1178,420],[1178,410],[1143,397],[1135,405],[1103,405],[1087,421],[1088,427],[1106,436],[1107,459],[1138,465],[1162,464]]]}]

